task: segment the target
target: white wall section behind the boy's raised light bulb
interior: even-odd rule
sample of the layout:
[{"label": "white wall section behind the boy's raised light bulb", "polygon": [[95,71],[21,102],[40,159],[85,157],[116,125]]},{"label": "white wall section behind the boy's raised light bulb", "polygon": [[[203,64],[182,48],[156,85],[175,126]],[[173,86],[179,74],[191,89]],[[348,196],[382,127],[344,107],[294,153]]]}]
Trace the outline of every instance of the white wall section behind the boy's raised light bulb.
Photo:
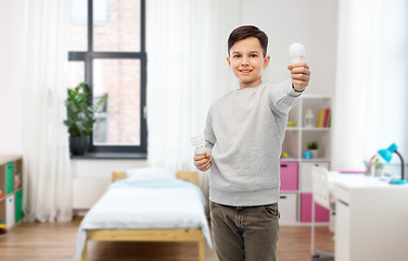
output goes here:
[{"label": "white wall section behind the boy's raised light bulb", "polygon": [[253,24],[269,38],[271,58],[266,80],[290,76],[288,54],[292,42],[306,47],[310,66],[310,95],[333,95],[337,50],[337,0],[243,0],[243,24]]}]

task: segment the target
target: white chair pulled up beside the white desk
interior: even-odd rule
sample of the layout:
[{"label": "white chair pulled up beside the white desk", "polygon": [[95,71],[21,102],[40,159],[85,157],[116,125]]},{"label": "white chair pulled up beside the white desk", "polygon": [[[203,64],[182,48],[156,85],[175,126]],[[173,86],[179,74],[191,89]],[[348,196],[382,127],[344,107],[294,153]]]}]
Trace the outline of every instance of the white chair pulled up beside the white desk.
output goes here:
[{"label": "white chair pulled up beside the white desk", "polygon": [[334,202],[330,202],[331,189],[328,171],[320,166],[311,166],[313,200],[311,200],[311,259],[310,261],[334,260],[334,253],[315,251],[315,202],[328,209],[330,214],[335,211]]}]

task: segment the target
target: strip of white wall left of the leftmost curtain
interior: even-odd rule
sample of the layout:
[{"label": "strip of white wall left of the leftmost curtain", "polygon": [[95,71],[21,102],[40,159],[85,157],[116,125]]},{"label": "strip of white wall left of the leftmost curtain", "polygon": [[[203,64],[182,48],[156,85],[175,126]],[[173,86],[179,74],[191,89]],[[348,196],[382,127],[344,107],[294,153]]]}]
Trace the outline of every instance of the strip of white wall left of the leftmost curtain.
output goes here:
[{"label": "strip of white wall left of the leftmost curtain", "polygon": [[21,154],[22,91],[17,79],[18,1],[0,0],[0,153]]}]

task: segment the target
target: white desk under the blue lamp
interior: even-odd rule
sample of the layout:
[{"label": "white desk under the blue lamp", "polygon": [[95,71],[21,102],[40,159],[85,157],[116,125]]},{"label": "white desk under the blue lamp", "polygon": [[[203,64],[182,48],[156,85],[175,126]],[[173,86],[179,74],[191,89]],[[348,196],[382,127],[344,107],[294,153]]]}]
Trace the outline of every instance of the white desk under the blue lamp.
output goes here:
[{"label": "white desk under the blue lamp", "polygon": [[408,260],[408,185],[329,173],[336,261]]}]

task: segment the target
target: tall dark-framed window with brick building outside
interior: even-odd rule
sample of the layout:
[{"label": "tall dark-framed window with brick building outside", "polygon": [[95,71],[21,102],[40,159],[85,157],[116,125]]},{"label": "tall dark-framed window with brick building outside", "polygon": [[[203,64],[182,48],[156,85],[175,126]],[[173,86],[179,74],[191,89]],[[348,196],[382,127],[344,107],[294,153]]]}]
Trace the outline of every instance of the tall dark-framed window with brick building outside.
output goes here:
[{"label": "tall dark-framed window with brick building outside", "polygon": [[144,0],[71,0],[68,87],[109,97],[90,153],[146,152],[144,15]]}]

